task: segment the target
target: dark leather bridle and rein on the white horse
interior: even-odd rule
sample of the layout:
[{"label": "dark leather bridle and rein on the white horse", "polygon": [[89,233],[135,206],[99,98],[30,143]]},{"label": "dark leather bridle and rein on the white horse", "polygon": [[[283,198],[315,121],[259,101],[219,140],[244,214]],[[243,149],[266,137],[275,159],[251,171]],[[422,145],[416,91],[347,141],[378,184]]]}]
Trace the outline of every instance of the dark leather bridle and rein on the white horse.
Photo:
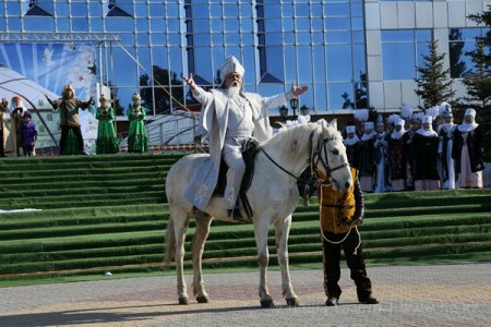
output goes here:
[{"label": "dark leather bridle and rein on the white horse", "polygon": [[[324,167],[324,170],[325,170],[325,173],[326,173],[326,178],[328,178],[333,171],[336,171],[338,169],[342,169],[342,168],[345,168],[345,167],[348,166],[348,164],[343,164],[343,165],[336,166],[334,168],[330,168],[328,162],[326,162],[322,158],[322,152],[324,152],[324,156],[325,156],[325,158],[327,158],[327,146],[326,146],[326,144],[328,142],[333,141],[334,137],[326,137],[326,138],[319,137],[318,144],[315,145],[315,148],[314,148],[313,147],[313,136],[314,136],[314,131],[312,131],[312,133],[310,133],[310,137],[309,137],[309,159],[307,159],[307,164],[310,166],[310,169],[311,169],[312,172],[316,171],[318,166],[319,166],[319,161],[321,161],[322,166]],[[260,147],[260,150],[262,150],[263,154],[270,159],[270,161],[272,161],[280,170],[285,171],[286,173],[288,173],[290,177],[292,177],[297,181],[301,181],[300,177],[296,177],[295,174],[292,174],[291,172],[289,172],[288,170],[283,168],[278,162],[276,162],[272,157],[270,157],[270,155],[262,147]]]}]

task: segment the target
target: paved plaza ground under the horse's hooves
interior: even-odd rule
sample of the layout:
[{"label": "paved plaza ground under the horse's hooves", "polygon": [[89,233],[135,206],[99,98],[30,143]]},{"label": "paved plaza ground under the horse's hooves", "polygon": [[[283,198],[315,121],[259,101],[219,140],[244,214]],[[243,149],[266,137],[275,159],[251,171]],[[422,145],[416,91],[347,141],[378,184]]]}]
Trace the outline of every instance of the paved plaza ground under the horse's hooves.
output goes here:
[{"label": "paved plaza ground under the horse's hooves", "polygon": [[321,270],[291,275],[295,308],[285,305],[276,271],[271,310],[259,307],[259,272],[205,275],[209,304],[178,305],[175,277],[5,288],[0,326],[491,326],[491,263],[369,267],[379,305],[357,303],[346,269],[336,307],[323,305]]}]

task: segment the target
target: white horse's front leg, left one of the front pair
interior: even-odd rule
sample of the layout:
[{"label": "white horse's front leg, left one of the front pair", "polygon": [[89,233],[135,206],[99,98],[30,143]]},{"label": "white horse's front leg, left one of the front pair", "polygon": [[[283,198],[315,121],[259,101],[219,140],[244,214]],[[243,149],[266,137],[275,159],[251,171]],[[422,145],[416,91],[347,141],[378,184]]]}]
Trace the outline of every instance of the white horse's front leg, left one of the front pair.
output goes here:
[{"label": "white horse's front leg, left one of the front pair", "polygon": [[260,266],[259,295],[262,307],[274,307],[273,298],[267,289],[267,265],[270,263],[270,252],[267,250],[267,221],[261,219],[254,223],[255,244],[258,246],[258,262]]}]

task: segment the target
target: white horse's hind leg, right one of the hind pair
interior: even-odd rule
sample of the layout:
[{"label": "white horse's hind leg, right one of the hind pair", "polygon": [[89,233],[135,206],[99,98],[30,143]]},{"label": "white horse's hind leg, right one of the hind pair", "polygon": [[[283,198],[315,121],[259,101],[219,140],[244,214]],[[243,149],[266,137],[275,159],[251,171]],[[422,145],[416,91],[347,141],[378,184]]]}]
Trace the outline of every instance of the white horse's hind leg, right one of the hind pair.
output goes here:
[{"label": "white horse's hind leg, right one of the hind pair", "polygon": [[192,242],[193,252],[193,293],[199,303],[208,303],[208,293],[206,293],[203,287],[203,272],[201,269],[201,258],[203,256],[204,243],[209,233],[209,225],[212,223],[212,217],[205,213],[195,213],[196,232],[194,233]]}]

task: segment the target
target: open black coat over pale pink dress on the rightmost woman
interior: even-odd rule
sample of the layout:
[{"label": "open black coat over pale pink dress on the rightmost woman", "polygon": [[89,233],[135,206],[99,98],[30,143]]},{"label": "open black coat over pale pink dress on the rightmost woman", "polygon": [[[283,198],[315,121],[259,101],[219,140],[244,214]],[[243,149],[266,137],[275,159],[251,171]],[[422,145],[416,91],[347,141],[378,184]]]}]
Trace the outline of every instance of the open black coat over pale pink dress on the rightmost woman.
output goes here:
[{"label": "open black coat over pale pink dress on the rightmost woman", "polygon": [[[452,158],[454,159],[456,173],[460,172],[462,147],[464,146],[464,138],[462,137],[462,134],[463,132],[460,132],[458,128],[455,129]],[[470,170],[472,172],[483,170],[484,141],[482,138],[482,131],[480,125],[468,132],[466,144],[467,149],[469,150]]]}]

